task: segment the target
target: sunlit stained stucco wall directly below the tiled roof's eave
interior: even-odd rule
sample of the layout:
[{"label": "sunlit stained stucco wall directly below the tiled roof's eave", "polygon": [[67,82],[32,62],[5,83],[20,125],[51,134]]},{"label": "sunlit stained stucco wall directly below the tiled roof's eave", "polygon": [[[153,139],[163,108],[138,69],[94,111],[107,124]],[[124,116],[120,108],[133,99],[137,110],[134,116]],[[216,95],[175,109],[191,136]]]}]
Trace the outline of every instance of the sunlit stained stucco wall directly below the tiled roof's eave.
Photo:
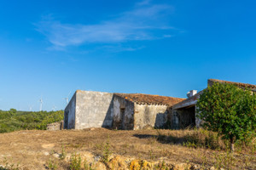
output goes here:
[{"label": "sunlit stained stucco wall directly below the tiled roof's eave", "polygon": [[163,127],[167,121],[166,105],[134,105],[134,129]]}]

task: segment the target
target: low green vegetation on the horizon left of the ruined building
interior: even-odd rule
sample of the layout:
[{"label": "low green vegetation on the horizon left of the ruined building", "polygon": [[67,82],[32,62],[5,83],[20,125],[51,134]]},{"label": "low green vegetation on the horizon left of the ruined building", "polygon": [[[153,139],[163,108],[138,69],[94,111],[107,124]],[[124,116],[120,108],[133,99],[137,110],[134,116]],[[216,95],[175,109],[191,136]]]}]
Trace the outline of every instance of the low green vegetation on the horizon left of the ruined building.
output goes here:
[{"label": "low green vegetation on the horizon left of the ruined building", "polygon": [[63,111],[0,111],[0,133],[17,130],[45,130],[51,122],[63,120]]}]

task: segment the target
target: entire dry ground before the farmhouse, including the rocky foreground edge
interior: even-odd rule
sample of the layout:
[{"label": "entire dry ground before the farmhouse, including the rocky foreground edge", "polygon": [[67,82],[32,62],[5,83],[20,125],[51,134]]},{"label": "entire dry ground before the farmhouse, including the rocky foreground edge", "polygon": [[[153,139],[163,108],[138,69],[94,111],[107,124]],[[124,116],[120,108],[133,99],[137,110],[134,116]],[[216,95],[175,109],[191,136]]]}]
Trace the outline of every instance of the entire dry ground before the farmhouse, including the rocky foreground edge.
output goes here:
[{"label": "entire dry ground before the farmhouse, including the rocky foreground edge", "polygon": [[192,133],[104,128],[1,133],[0,169],[256,169],[255,150],[229,154],[184,143]]}]

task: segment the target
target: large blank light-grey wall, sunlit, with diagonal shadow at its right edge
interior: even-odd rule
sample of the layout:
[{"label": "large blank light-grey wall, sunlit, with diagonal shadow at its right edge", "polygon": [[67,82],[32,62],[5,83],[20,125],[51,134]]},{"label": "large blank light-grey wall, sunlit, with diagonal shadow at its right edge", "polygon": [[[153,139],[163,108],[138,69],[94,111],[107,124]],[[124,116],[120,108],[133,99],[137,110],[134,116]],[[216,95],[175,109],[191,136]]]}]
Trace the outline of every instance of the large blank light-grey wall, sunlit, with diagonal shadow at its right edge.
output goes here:
[{"label": "large blank light-grey wall, sunlit, with diagonal shadow at its right edge", "polygon": [[113,126],[113,94],[78,90],[75,110],[76,129]]}]

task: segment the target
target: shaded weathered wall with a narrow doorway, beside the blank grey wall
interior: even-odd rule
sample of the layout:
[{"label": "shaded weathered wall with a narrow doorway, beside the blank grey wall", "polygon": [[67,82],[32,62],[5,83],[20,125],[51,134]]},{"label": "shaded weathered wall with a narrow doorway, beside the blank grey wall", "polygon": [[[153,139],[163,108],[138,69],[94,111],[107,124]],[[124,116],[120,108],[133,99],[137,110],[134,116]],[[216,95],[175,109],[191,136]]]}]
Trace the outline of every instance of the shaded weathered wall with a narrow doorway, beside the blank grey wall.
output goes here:
[{"label": "shaded weathered wall with a narrow doorway, beside the blank grey wall", "polygon": [[113,128],[132,130],[134,127],[134,103],[114,95]]}]

